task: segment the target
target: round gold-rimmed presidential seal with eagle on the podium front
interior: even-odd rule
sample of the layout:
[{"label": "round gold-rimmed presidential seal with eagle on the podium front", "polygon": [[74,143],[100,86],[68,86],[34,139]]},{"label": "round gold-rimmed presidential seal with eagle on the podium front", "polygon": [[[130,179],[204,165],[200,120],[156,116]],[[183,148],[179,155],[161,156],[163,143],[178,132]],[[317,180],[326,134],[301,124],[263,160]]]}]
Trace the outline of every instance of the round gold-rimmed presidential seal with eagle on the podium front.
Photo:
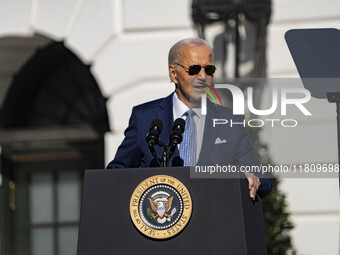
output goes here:
[{"label": "round gold-rimmed presidential seal with eagle on the podium front", "polygon": [[130,200],[133,224],[144,235],[165,239],[188,224],[192,201],[188,189],[176,178],[155,175],[141,182]]}]

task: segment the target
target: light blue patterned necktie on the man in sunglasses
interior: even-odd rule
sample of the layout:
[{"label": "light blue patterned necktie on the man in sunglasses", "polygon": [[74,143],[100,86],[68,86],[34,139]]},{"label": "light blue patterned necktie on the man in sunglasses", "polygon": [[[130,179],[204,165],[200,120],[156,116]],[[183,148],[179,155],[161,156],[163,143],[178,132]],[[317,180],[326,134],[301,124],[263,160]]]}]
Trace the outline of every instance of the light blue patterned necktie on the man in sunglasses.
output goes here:
[{"label": "light blue patterned necktie on the man in sunglasses", "polygon": [[179,154],[184,161],[184,166],[196,165],[196,125],[194,121],[194,112],[188,110],[184,113],[186,116],[185,130],[183,133],[183,140],[179,145]]}]

